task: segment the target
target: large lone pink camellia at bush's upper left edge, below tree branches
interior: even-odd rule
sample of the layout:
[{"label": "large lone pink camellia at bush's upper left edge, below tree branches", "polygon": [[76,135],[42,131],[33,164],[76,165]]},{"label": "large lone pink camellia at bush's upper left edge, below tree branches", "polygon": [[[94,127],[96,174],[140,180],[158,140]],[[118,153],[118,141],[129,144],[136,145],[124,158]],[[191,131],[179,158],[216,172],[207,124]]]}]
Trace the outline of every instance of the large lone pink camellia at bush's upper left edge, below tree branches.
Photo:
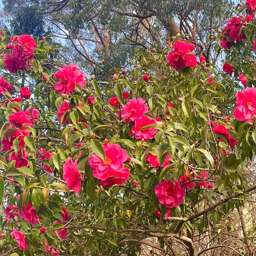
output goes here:
[{"label": "large lone pink camellia at bush's upper left edge, below tree branches", "polygon": [[76,88],[76,84],[79,84],[84,88],[84,84],[87,81],[86,75],[83,71],[78,70],[78,66],[74,63],[70,63],[67,66],[59,68],[54,74],[59,82],[56,82],[55,89],[58,93],[70,94]]}]

